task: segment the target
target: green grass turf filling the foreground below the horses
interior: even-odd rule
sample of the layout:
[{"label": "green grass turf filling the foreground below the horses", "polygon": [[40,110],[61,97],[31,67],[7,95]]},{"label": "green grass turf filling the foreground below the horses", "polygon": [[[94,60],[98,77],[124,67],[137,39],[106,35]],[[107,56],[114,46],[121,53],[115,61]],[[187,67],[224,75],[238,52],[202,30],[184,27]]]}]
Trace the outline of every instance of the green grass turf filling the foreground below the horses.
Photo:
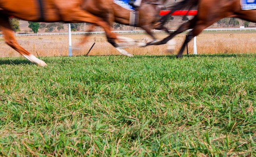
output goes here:
[{"label": "green grass turf filling the foreground below the horses", "polygon": [[256,55],[0,58],[0,156],[256,156]]}]

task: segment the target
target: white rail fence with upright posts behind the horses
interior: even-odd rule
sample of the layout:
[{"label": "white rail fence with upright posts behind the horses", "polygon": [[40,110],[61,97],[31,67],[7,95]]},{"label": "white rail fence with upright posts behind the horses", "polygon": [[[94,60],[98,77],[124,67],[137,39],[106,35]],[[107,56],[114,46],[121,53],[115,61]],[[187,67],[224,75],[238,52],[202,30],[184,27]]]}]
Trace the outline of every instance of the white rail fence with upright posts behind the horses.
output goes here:
[{"label": "white rail fence with upright posts behind the horses", "polygon": [[[174,32],[176,30],[169,30],[169,32]],[[187,30],[190,31],[190,30]],[[225,32],[225,31],[256,31],[256,28],[213,28],[213,29],[205,29],[204,32]],[[113,31],[116,34],[129,34],[129,33],[144,33],[144,30],[137,31]],[[160,33],[163,31],[152,30],[152,32]],[[72,42],[71,35],[85,35],[85,34],[105,34],[104,31],[98,32],[71,32],[70,24],[68,24],[68,32],[63,33],[39,33],[39,34],[14,34],[15,36],[39,36],[39,35],[68,35],[68,55],[72,56]],[[3,35],[0,35],[2,37]],[[196,37],[193,39],[193,54],[197,54],[197,46],[196,46]]]}]

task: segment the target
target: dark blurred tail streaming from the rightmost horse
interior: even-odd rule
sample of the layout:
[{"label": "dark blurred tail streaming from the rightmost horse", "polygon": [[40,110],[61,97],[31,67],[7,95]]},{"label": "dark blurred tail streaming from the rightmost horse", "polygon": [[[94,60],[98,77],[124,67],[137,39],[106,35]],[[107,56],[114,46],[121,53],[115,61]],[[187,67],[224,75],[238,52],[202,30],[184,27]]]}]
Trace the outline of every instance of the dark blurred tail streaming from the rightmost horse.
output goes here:
[{"label": "dark blurred tail streaming from the rightmost horse", "polygon": [[[197,7],[199,0],[183,0],[176,4],[174,4],[171,7],[167,7],[168,10],[170,10],[166,15],[162,16],[160,20],[160,24],[163,26],[167,20],[169,19],[169,16],[172,15],[177,10],[191,10],[195,7]],[[186,15],[185,15],[186,16]]]}]

